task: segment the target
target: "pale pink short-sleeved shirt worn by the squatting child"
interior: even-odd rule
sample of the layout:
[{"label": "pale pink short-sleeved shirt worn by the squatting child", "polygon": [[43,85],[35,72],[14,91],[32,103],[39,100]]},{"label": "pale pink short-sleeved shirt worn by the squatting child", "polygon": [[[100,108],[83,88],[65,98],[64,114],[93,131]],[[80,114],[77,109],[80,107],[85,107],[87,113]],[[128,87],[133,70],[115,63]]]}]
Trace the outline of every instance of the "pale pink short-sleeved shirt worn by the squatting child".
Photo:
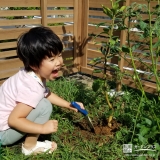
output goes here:
[{"label": "pale pink short-sleeved shirt worn by the squatting child", "polygon": [[10,128],[8,117],[18,102],[36,108],[49,90],[34,74],[23,68],[0,86],[0,131]]}]

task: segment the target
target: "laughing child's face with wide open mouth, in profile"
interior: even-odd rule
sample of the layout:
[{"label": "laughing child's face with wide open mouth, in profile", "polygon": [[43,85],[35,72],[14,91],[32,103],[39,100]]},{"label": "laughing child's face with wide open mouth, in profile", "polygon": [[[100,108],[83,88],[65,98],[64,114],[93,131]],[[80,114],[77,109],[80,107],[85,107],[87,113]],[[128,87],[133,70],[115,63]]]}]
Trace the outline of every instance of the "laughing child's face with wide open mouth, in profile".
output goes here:
[{"label": "laughing child's face with wide open mouth, in profile", "polygon": [[42,81],[45,79],[53,80],[58,77],[58,71],[62,67],[62,64],[63,58],[61,53],[53,55],[51,58],[46,57],[35,73]]}]

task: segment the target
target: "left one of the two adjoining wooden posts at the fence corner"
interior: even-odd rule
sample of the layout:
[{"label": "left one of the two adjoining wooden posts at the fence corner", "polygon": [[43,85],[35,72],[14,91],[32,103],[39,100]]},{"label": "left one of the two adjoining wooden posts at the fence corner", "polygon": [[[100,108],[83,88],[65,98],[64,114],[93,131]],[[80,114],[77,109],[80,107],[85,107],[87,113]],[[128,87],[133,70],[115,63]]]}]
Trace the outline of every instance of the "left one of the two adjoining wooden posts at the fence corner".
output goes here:
[{"label": "left one of the two adjoining wooden posts at the fence corner", "polygon": [[82,0],[74,0],[74,66],[78,69],[80,68],[80,43],[81,43],[81,23],[82,23]]}]

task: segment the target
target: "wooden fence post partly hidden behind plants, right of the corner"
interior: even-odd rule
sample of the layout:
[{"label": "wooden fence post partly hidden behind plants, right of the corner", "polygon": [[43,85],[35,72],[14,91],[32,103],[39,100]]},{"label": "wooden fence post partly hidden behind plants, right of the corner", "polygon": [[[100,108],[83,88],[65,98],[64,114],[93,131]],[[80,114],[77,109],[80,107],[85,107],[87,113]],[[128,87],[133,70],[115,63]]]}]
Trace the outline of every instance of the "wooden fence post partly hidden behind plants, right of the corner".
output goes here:
[{"label": "wooden fence post partly hidden behind plants, right of the corner", "polygon": [[[124,6],[129,6],[130,5],[130,0],[127,0],[126,2],[123,2]],[[125,19],[125,24],[127,24],[128,19]],[[127,38],[127,32],[126,30],[122,30],[120,34],[120,46],[126,44],[126,38]],[[124,56],[124,53],[120,53],[122,57]],[[123,72],[123,67],[124,67],[124,58],[121,58],[121,60],[118,62],[118,66],[120,68],[120,71]],[[116,90],[120,91],[122,88],[122,80],[117,80],[117,86]]]}]

